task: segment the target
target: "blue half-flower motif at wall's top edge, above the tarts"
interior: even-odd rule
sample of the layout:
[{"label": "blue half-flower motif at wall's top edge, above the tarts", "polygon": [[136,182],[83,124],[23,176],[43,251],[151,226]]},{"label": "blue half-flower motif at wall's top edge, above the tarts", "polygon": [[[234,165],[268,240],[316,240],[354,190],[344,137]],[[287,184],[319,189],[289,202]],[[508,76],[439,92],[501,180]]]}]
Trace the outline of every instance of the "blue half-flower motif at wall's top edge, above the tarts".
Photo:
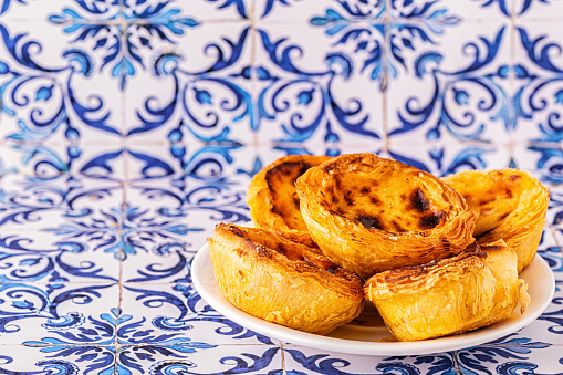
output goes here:
[{"label": "blue half-flower motif at wall's top edge, above the tarts", "polygon": [[335,46],[351,45],[361,56],[361,70],[380,83],[397,77],[405,54],[420,44],[436,44],[444,29],[458,24],[459,17],[442,3],[421,1],[334,1],[311,24],[323,28]]}]

